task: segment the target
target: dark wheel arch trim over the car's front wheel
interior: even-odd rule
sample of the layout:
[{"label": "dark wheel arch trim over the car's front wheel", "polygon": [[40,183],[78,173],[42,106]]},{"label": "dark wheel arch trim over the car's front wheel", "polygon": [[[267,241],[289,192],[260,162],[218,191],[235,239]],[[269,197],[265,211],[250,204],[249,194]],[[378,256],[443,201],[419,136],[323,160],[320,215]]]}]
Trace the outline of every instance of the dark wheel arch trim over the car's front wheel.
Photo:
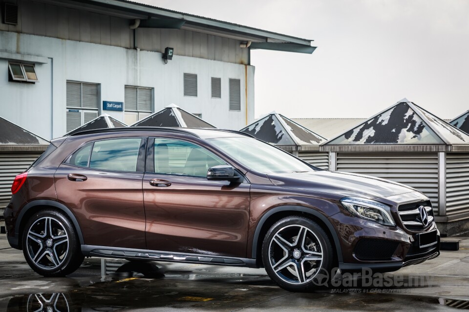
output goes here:
[{"label": "dark wheel arch trim over the car's front wheel", "polygon": [[270,229],[270,227],[278,220],[289,215],[306,216],[316,221],[323,228],[326,234],[329,235],[329,238],[332,239],[331,243],[333,244],[334,252],[337,256],[337,260],[339,262],[343,261],[339,237],[337,236],[337,233],[332,223],[327,219],[327,217],[325,217],[319,211],[314,210],[312,208],[307,208],[307,207],[302,207],[302,206],[291,206],[291,205],[272,208],[260,218],[256,226],[256,231],[254,232],[252,258],[257,259],[257,255],[260,254],[263,237],[267,233],[267,231]]}]

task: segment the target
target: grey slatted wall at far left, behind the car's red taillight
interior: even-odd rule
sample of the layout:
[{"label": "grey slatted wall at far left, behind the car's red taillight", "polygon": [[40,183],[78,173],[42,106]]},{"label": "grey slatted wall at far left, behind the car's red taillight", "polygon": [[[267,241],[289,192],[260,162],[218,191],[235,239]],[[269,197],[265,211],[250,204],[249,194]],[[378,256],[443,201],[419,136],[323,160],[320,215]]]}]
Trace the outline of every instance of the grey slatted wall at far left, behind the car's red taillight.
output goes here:
[{"label": "grey slatted wall at far left, behind the car's red taillight", "polygon": [[0,208],[11,198],[11,184],[15,176],[24,172],[43,152],[0,152]]}]

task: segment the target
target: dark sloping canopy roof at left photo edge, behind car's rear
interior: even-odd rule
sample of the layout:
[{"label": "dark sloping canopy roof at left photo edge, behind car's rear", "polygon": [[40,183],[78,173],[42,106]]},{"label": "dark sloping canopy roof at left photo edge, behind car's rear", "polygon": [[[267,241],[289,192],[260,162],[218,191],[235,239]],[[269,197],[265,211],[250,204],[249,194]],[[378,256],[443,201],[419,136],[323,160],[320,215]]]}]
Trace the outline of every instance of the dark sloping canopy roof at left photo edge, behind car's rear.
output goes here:
[{"label": "dark sloping canopy roof at left photo edge, behind car's rear", "polygon": [[43,151],[49,141],[0,117],[0,151]]}]

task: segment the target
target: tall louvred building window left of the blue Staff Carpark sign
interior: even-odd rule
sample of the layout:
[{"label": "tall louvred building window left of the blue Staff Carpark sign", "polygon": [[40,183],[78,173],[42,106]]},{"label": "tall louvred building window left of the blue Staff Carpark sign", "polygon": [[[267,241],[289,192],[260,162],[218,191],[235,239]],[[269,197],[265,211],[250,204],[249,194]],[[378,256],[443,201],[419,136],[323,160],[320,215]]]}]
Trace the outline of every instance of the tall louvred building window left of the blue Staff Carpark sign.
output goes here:
[{"label": "tall louvred building window left of the blue Staff Carpark sign", "polygon": [[67,133],[98,117],[99,84],[67,80]]}]

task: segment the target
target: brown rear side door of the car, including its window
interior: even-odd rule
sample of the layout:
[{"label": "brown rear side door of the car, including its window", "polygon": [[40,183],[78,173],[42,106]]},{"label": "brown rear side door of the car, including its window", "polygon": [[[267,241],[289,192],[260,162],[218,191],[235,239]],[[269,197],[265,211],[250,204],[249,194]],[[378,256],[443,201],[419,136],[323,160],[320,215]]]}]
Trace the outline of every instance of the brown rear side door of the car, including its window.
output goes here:
[{"label": "brown rear side door of the car, including its window", "polygon": [[146,248],[146,141],[126,137],[88,142],[56,171],[57,197],[76,216],[86,245]]}]

